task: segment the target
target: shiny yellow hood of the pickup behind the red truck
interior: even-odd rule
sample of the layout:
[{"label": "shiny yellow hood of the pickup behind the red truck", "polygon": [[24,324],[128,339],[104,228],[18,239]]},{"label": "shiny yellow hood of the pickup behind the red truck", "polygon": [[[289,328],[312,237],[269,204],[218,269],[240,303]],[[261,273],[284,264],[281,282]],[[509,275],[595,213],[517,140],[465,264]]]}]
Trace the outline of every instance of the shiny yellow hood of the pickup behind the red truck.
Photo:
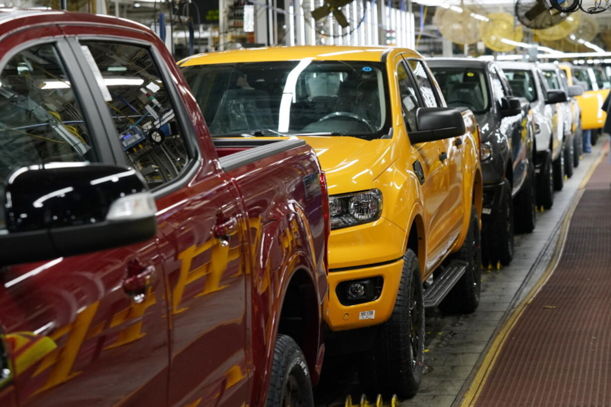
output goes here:
[{"label": "shiny yellow hood of the pickup behind the red truck", "polygon": [[300,136],[318,155],[329,194],[371,189],[382,171],[397,160],[392,139],[367,141],[349,136]]}]

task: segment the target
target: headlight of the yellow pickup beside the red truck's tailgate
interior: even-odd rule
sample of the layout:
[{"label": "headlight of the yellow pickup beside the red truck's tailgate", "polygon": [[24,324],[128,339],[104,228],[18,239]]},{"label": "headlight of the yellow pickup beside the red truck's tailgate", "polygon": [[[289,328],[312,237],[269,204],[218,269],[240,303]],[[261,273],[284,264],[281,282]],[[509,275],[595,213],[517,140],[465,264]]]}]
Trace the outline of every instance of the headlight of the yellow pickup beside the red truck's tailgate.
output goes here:
[{"label": "headlight of the yellow pickup beside the red truck's tailgate", "polygon": [[331,229],[373,222],[381,213],[382,193],[379,189],[329,197]]}]

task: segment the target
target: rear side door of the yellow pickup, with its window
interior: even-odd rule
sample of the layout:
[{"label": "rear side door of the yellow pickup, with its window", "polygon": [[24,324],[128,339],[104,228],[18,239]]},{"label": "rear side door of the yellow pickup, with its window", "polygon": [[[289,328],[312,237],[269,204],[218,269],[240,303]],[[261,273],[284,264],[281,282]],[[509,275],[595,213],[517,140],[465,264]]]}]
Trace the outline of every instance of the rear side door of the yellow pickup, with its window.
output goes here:
[{"label": "rear side door of the yellow pickup, with its window", "polygon": [[[406,59],[409,67],[414,73],[415,81],[422,94],[422,100],[427,108],[444,106],[442,104],[441,92],[439,87],[434,84],[430,71],[419,59]],[[443,144],[443,151],[447,154],[447,159],[442,163],[446,167],[447,189],[444,201],[441,205],[440,220],[444,230],[443,252],[447,253],[450,246],[458,237],[463,227],[465,208],[463,208],[463,140],[459,138],[449,138],[440,140]]]}]

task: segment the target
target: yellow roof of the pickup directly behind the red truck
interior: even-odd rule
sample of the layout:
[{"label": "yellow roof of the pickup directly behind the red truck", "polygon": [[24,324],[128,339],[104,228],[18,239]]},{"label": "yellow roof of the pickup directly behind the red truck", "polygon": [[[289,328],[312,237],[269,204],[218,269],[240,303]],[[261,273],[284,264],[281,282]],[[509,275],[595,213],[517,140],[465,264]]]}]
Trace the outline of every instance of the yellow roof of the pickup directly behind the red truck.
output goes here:
[{"label": "yellow roof of the pickup directly behind the red truck", "polygon": [[343,45],[298,45],[298,46],[264,46],[242,50],[219,51],[216,53],[197,54],[181,60],[180,66],[202,64],[235,64],[238,62],[268,62],[281,60],[360,60],[383,62],[387,54],[408,53],[420,57],[420,54],[408,48],[392,46],[343,46]]}]

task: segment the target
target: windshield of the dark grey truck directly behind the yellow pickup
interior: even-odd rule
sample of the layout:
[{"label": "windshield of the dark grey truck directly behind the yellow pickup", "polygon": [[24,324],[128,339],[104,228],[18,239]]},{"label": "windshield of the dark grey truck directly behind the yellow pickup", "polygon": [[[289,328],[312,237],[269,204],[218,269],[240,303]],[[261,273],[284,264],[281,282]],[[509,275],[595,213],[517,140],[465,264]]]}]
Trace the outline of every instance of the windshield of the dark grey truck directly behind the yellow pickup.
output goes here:
[{"label": "windshield of the dark grey truck directly behind the yellow pickup", "polygon": [[431,67],[431,70],[448,106],[467,106],[475,114],[488,110],[490,103],[483,70],[446,67]]}]

